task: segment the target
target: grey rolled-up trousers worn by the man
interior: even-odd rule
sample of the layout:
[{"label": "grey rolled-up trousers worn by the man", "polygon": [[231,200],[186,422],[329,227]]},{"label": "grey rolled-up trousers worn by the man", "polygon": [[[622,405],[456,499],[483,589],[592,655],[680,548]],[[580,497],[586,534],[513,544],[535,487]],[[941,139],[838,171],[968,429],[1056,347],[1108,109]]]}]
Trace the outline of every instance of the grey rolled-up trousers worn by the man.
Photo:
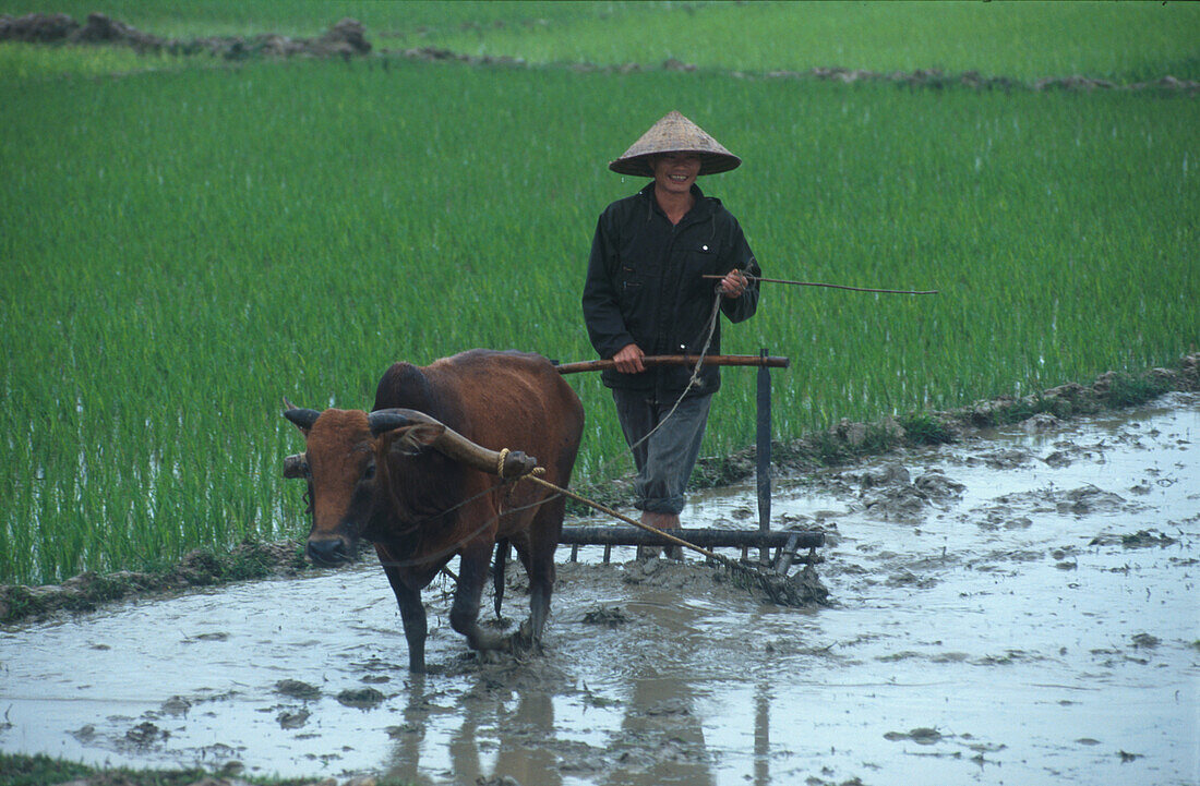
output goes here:
[{"label": "grey rolled-up trousers worn by the man", "polygon": [[612,398],[637,466],[634,506],[652,514],[678,515],[688,502],[684,491],[704,439],[712,394],[684,398],[666,424],[641,444],[637,443],[671,412],[676,397],[660,401],[653,391],[613,388]]}]

